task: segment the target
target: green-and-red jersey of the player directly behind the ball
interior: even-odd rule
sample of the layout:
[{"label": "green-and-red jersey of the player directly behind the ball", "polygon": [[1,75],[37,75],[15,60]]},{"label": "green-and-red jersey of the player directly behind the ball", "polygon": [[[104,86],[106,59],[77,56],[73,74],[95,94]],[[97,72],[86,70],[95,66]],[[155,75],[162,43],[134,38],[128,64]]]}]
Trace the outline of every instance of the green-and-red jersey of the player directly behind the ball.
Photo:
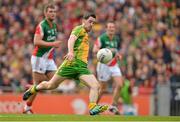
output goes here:
[{"label": "green-and-red jersey of the player directly behind the ball", "polygon": [[[103,33],[98,37],[95,43],[100,49],[102,48],[115,48],[117,51],[120,49],[120,38],[118,36],[114,36],[112,40],[109,39],[107,33]],[[115,53],[113,53],[113,56],[115,56]],[[116,64],[116,59],[113,58],[110,65]]]}]

